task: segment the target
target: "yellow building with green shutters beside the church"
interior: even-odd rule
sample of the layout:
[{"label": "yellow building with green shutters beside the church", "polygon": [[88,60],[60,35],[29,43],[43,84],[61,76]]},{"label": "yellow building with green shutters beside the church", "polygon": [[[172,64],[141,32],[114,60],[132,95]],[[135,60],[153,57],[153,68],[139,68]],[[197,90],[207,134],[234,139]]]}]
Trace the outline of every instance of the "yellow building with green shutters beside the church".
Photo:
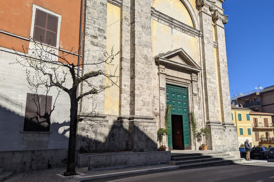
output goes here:
[{"label": "yellow building with green shutters beside the church", "polygon": [[250,146],[253,144],[251,135],[252,127],[249,116],[250,111],[250,109],[244,108],[242,105],[236,107],[234,104],[231,104],[232,122],[237,128],[239,147],[241,144],[244,144],[246,139],[249,140]]}]

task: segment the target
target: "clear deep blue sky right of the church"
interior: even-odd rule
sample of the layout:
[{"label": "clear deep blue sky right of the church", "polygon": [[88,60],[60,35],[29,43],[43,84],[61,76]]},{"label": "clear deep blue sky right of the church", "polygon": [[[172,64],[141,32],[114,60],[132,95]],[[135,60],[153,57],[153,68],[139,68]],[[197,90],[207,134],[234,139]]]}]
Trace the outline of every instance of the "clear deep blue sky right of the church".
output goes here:
[{"label": "clear deep blue sky right of the church", "polygon": [[[273,1],[274,2],[274,1]],[[274,10],[268,0],[226,0],[230,97],[274,85]]]}]

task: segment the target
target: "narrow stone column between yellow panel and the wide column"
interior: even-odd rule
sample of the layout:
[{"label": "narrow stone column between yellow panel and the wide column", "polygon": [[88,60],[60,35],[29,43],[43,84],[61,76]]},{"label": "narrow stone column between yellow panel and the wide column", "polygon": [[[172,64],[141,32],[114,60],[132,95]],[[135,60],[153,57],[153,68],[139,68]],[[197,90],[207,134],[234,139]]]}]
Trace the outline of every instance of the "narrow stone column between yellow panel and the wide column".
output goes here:
[{"label": "narrow stone column between yellow panel and the wide column", "polygon": [[120,33],[120,98],[118,120],[129,118],[130,84],[130,0],[123,0],[121,5]]}]

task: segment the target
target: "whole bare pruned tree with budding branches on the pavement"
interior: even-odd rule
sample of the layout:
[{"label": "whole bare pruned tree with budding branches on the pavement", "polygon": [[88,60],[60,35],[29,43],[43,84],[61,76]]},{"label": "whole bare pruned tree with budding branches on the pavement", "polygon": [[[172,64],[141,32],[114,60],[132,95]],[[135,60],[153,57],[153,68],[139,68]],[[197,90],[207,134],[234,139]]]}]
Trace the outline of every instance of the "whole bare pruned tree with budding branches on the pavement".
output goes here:
[{"label": "whole bare pruned tree with budding branches on the pavement", "polygon": [[[38,90],[42,89],[44,90],[44,94],[47,94],[51,88],[57,89],[57,97],[62,92],[68,93],[68,96],[70,98],[70,125],[68,143],[68,164],[67,170],[66,172],[64,172],[64,175],[75,175],[75,146],[78,120],[78,102],[85,96],[93,96],[113,85],[118,86],[116,84],[118,79],[117,76],[115,76],[115,72],[118,66],[116,67],[113,75],[106,74],[102,70],[93,70],[90,72],[82,73],[81,75],[77,75],[77,67],[93,65],[93,67],[96,69],[97,65],[99,64],[109,64],[114,66],[114,64],[112,63],[114,56],[116,56],[119,52],[114,54],[112,48],[110,54],[106,53],[104,55],[106,57],[106,59],[104,60],[87,60],[86,62],[82,61],[82,63],[80,63],[79,65],[75,65],[72,61],[66,59],[66,56],[72,52],[62,52],[62,55],[58,56],[58,51],[56,52],[56,49],[52,48],[51,46],[35,42],[32,40],[32,38],[30,38],[30,41],[34,42],[34,48],[29,49],[28,53],[26,53],[26,49],[24,48],[24,46],[22,46],[23,54],[17,52],[14,48],[12,48],[20,57],[19,59],[16,58],[16,62],[12,64],[17,63],[22,65],[23,67],[26,67],[27,82],[30,89],[33,92],[37,93],[37,95]],[[100,75],[105,76],[110,80],[110,84],[106,85],[104,88],[98,88],[97,86],[92,84],[92,80]],[[81,93],[78,96],[77,88],[81,82],[86,83],[89,90],[85,93]],[[51,114],[54,110],[56,99],[54,101],[52,110],[48,114]]]}]

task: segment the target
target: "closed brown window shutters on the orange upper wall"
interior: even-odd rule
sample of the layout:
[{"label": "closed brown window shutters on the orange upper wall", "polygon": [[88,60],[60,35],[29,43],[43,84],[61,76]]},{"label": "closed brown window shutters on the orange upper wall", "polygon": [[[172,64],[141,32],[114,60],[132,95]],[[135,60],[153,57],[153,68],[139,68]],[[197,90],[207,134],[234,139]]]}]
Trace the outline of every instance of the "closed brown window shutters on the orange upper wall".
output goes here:
[{"label": "closed brown window shutters on the orange upper wall", "polygon": [[58,17],[36,9],[33,40],[56,46]]}]

